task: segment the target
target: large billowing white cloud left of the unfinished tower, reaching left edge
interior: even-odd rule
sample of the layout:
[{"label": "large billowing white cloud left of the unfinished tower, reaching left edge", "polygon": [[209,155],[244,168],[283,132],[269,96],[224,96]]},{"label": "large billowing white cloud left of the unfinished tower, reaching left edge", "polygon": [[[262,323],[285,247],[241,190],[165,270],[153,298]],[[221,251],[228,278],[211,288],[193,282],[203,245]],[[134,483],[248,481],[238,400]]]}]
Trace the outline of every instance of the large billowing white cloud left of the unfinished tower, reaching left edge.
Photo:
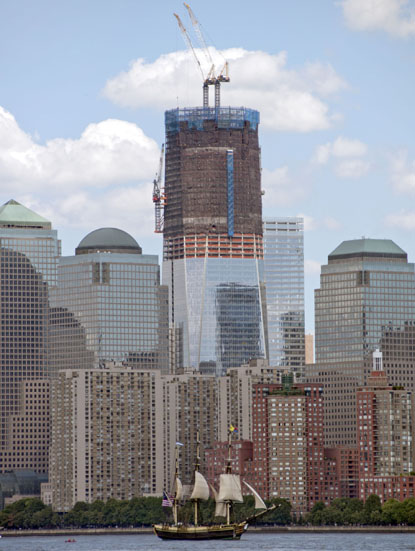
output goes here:
[{"label": "large billowing white cloud left of the unfinished tower, reaching left edge", "polygon": [[34,185],[61,191],[85,185],[105,187],[151,177],[158,146],[135,124],[108,119],[87,126],[79,139],[56,138],[37,144],[0,107],[2,191],[29,191]]}]

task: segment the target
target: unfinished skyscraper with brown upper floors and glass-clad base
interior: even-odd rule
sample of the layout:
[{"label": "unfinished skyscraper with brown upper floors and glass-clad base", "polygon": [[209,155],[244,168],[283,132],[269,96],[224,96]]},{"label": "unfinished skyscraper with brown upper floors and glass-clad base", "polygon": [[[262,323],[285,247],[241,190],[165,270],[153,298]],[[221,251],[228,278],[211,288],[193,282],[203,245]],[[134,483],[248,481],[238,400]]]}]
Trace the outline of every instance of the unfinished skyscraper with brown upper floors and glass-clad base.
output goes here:
[{"label": "unfinished skyscraper with brown upper floors and glass-clad base", "polygon": [[259,113],[174,109],[165,123],[170,323],[183,365],[221,375],[266,352]]}]

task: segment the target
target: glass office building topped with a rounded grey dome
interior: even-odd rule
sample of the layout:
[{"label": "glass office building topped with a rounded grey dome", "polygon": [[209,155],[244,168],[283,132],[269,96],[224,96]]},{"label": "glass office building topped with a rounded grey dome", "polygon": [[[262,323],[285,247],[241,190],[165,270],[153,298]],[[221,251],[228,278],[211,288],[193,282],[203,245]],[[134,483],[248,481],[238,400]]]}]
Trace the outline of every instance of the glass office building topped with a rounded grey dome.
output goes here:
[{"label": "glass office building topped with a rounded grey dome", "polygon": [[58,274],[55,331],[72,331],[69,311],[86,336],[84,347],[66,339],[69,348],[59,348],[62,367],[113,361],[168,372],[168,296],[157,256],[142,254],[122,230],[100,228],[82,239],[74,256],[60,258]]}]

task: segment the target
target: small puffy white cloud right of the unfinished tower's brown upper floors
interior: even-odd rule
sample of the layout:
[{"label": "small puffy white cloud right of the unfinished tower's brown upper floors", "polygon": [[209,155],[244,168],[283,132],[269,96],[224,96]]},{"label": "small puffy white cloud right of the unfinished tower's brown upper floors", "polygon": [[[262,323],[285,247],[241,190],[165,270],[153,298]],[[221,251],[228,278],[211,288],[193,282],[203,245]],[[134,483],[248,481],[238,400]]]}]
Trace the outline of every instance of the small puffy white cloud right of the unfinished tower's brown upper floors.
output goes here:
[{"label": "small puffy white cloud right of the unfinished tower's brown upper floors", "polygon": [[339,136],[333,142],[319,145],[314,153],[313,162],[325,165],[335,159],[335,172],[339,178],[360,178],[370,168],[370,163],[361,159],[367,155],[367,145],[360,140],[351,140]]}]

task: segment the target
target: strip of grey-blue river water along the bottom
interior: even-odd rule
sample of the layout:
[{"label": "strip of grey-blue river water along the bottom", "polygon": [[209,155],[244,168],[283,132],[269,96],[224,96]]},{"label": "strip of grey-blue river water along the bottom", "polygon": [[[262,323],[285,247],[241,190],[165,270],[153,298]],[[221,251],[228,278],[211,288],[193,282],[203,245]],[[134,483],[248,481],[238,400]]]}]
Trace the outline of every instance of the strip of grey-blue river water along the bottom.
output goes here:
[{"label": "strip of grey-blue river water along the bottom", "polygon": [[[68,536],[67,536],[68,537]],[[162,541],[154,535],[0,539],[0,551],[415,551],[415,534],[244,534],[239,541]]]}]

